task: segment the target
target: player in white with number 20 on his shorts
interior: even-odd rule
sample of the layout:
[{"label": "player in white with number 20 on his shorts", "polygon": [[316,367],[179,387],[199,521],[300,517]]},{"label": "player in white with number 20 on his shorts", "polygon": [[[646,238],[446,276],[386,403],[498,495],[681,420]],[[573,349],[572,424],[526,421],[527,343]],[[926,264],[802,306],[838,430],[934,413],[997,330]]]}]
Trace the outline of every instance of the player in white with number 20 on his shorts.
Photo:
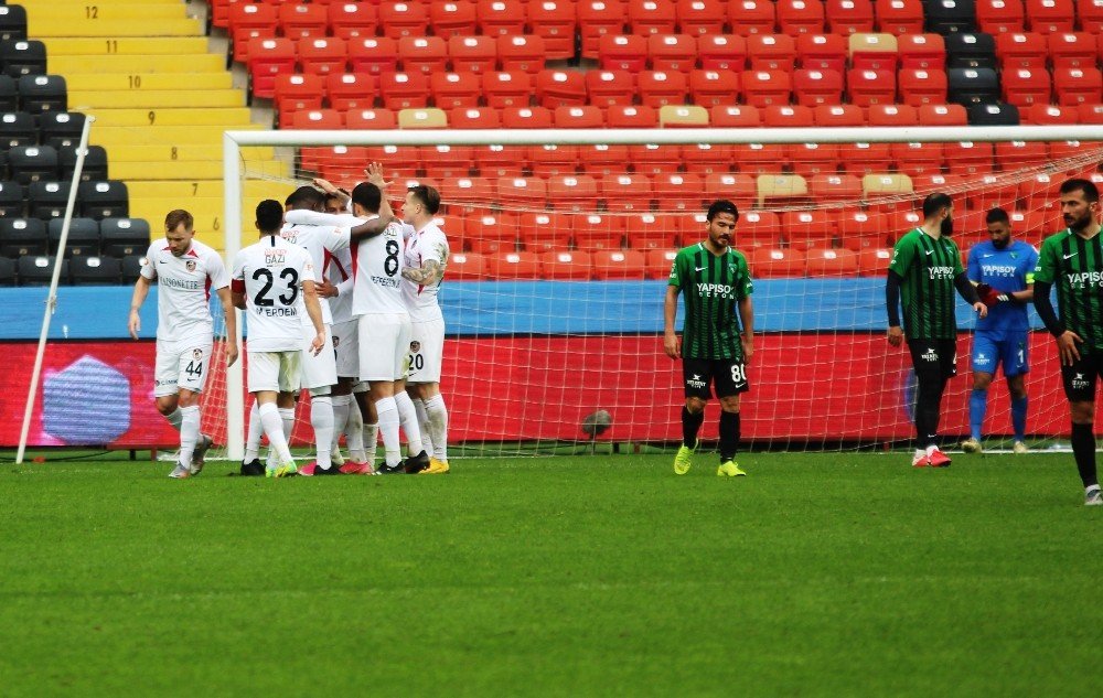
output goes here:
[{"label": "player in white with number 20 on his shorts", "polygon": [[[403,221],[409,236],[403,258],[403,298],[410,313],[407,393],[414,400],[422,434],[428,433],[432,457],[424,474],[448,473],[448,409],[440,394],[445,356],[445,315],[437,294],[448,264],[448,238],[433,223],[440,194],[424,184],[406,192]],[[424,415],[424,418],[422,418]],[[422,439],[425,441],[425,439]]]}]

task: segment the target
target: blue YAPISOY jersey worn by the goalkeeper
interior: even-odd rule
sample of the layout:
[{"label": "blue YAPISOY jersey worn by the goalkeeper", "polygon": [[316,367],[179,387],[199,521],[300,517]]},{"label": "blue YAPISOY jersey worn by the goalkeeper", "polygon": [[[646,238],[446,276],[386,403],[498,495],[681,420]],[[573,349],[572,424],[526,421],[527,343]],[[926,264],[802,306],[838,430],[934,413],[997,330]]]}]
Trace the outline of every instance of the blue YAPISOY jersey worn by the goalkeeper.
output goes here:
[{"label": "blue YAPISOY jersey worn by the goalkeeper", "polygon": [[[1038,250],[1021,240],[1011,240],[1004,249],[998,249],[992,240],[974,245],[968,250],[966,273],[970,281],[987,283],[997,291],[1025,291],[1034,283],[1034,270],[1038,264]],[[978,332],[1002,339],[1008,332],[1025,332],[1030,329],[1026,303],[996,303],[988,309],[988,316],[976,321]]]}]

